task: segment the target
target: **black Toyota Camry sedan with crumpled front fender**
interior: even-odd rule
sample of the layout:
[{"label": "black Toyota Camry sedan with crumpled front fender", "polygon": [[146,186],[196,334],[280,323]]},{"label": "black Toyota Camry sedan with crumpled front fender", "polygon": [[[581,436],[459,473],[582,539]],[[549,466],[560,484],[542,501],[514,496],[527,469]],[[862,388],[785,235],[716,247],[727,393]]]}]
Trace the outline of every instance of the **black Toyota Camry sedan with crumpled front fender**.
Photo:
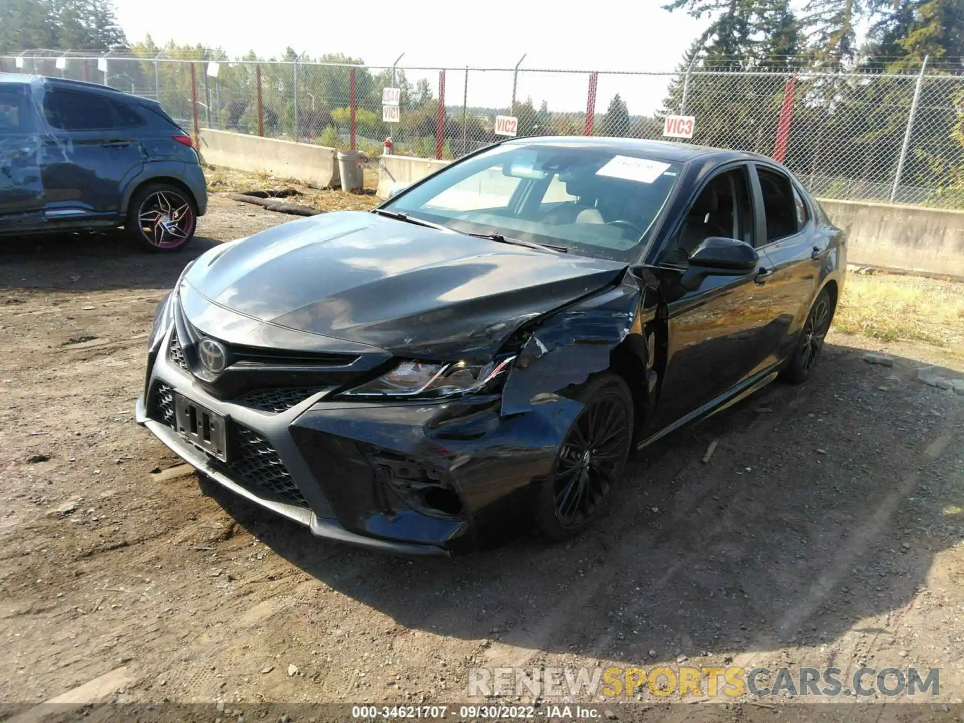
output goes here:
[{"label": "black Toyota Camry sedan with crumpled front fender", "polygon": [[564,540],[601,517],[632,449],[804,381],[844,260],[843,233],[762,156],[512,139],[370,213],[202,254],[158,306],[137,419],[319,537],[406,554]]}]

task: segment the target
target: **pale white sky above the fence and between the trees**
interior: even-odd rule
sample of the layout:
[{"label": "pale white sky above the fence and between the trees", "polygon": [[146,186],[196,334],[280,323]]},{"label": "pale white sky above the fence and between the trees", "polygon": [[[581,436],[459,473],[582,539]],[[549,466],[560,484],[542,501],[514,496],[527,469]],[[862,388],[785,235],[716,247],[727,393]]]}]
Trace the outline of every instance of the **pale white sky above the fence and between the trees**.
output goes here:
[{"label": "pale white sky above the fence and between the trees", "polygon": [[[201,43],[228,55],[254,50],[279,56],[287,46],[310,57],[344,53],[367,65],[447,67],[445,104],[466,97],[465,67],[633,70],[671,73],[683,51],[706,27],[660,0],[282,0],[248,4],[234,0],[115,0],[128,40],[147,34],[158,44]],[[462,68],[462,69],[457,69]],[[407,69],[438,87],[438,71]],[[670,75],[601,75],[597,111],[619,93],[630,114],[659,107]],[[588,75],[520,72],[516,96],[542,100],[554,111],[584,111]],[[469,72],[469,106],[508,107],[512,73]]]}]

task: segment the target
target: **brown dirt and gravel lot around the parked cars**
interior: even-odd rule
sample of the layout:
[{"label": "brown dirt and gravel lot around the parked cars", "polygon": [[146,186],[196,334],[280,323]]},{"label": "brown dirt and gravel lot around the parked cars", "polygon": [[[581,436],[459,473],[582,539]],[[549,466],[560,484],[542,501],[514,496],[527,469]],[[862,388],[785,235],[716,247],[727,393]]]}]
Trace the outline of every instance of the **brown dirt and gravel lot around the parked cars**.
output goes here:
[{"label": "brown dirt and gravel lot around the parked cars", "polygon": [[75,698],[200,703],[207,720],[219,701],[451,703],[470,665],[682,656],[844,680],[935,667],[937,700],[964,700],[964,396],[914,381],[921,362],[960,369],[953,350],[835,333],[808,384],[646,450],[576,542],[399,561],[201,483],[133,421],[183,264],[288,220],[215,197],[181,255],[0,246],[0,705],[97,679]]}]

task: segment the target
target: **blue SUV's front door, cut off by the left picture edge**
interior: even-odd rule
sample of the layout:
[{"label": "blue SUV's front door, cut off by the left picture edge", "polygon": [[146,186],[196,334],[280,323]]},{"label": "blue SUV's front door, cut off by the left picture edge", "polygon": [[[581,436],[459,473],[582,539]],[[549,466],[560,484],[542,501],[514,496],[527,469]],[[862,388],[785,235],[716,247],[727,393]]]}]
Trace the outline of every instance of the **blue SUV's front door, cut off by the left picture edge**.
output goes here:
[{"label": "blue SUV's front door, cut off by the left picture edge", "polygon": [[0,230],[43,218],[38,149],[30,85],[0,83]]}]

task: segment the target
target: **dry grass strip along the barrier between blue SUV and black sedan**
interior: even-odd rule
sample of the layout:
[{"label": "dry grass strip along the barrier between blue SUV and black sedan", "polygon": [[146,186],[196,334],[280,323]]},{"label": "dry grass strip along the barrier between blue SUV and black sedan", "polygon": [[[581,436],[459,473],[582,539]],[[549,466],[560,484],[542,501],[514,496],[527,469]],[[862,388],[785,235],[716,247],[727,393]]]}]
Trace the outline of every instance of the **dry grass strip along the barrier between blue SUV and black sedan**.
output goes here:
[{"label": "dry grass strip along the barrier between blue SUV and black sedan", "polygon": [[364,188],[360,194],[345,193],[337,188],[310,188],[294,178],[276,178],[268,174],[253,174],[227,168],[207,167],[204,169],[204,174],[207,176],[207,190],[210,193],[244,193],[293,188],[298,191],[298,196],[293,196],[288,201],[322,211],[367,211],[379,203],[375,198],[378,172],[368,168],[364,169]]}]

